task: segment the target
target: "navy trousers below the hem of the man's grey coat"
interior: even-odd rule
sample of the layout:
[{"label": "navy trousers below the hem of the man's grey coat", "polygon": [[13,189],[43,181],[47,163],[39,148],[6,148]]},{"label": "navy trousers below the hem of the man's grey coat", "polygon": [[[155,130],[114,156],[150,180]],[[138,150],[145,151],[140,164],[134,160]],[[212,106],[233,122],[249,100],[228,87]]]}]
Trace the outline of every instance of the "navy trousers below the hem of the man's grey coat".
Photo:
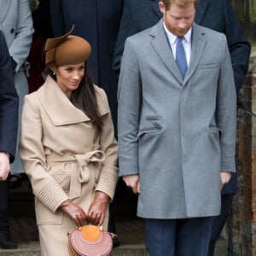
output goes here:
[{"label": "navy trousers below the hem of the man's grey coat", "polygon": [[146,218],[146,244],[150,256],[206,256],[212,217],[184,219]]}]

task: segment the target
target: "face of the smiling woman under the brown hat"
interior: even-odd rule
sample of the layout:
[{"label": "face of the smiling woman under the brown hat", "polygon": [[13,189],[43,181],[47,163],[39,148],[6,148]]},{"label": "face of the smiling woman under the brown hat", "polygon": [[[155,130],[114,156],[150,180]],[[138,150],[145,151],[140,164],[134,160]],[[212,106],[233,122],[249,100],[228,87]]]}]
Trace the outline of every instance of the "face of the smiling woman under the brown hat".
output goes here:
[{"label": "face of the smiling woman under the brown hat", "polygon": [[67,97],[71,96],[73,90],[78,89],[84,77],[84,68],[84,62],[58,67],[58,73],[56,73],[57,84]]}]

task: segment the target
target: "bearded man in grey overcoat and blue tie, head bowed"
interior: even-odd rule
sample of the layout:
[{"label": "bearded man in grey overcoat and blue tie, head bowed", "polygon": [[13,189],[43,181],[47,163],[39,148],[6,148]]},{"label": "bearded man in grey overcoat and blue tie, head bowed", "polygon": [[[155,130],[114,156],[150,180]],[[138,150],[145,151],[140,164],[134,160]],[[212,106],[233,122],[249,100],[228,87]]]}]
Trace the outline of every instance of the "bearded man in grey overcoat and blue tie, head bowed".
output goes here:
[{"label": "bearded man in grey overcoat and blue tie, head bowed", "polygon": [[163,20],[127,38],[119,76],[119,172],[154,256],[207,255],[236,172],[230,53],[224,34],[193,23],[196,4],[160,1]]}]

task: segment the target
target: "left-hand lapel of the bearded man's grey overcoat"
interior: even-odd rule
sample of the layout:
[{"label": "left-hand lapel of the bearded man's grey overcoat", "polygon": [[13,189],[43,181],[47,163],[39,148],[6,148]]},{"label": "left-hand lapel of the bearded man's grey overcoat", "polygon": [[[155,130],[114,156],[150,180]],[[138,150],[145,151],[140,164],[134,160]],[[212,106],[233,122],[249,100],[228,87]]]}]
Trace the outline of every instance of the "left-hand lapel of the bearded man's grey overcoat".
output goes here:
[{"label": "left-hand lapel of the bearded man's grey overcoat", "polygon": [[162,19],[152,27],[150,35],[152,37],[151,44],[156,53],[160,56],[161,60],[164,62],[165,66],[169,69],[173,76],[181,84],[183,84],[181,73],[179,72],[176,61],[172,55],[171,46],[166,37]]}]

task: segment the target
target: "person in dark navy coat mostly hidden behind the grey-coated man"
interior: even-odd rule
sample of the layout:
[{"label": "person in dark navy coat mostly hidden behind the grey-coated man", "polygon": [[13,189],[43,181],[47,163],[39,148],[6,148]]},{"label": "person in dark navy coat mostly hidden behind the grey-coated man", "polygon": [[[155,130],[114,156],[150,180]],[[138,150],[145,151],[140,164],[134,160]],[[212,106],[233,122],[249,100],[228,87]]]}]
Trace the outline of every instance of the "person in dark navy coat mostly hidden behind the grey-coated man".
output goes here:
[{"label": "person in dark navy coat mostly hidden behind the grey-coated man", "polygon": [[[120,60],[123,54],[125,39],[154,26],[162,17],[158,7],[159,0],[126,0],[123,16],[119,28],[119,36],[113,57],[113,69],[119,73]],[[195,22],[223,32],[227,37],[234,78],[236,93],[241,89],[242,82],[247,74],[250,56],[250,44],[247,42],[244,32],[241,30],[236,15],[229,0],[201,0],[196,8]],[[221,214],[212,220],[212,235],[209,248],[209,256],[213,255],[215,243],[224,227],[230,209],[233,196],[237,192],[236,173],[232,173],[230,183],[224,185],[221,190]]]}]

